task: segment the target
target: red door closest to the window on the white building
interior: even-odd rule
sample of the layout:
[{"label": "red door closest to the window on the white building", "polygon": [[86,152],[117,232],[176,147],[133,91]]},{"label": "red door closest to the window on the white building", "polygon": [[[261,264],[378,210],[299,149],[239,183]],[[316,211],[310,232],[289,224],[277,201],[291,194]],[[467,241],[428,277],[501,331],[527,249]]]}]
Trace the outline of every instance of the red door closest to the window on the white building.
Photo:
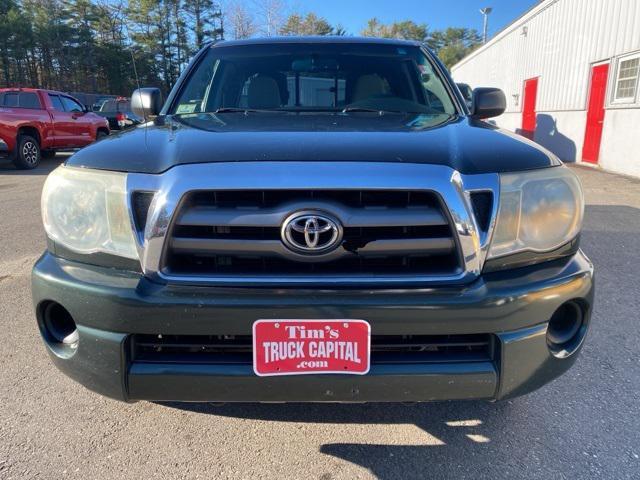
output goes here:
[{"label": "red door closest to the window on the white building", "polygon": [[584,132],[582,161],[598,163],[600,157],[600,141],[604,125],[604,99],[607,94],[607,78],[609,64],[596,65],[591,68],[591,90],[587,110],[587,128]]}]

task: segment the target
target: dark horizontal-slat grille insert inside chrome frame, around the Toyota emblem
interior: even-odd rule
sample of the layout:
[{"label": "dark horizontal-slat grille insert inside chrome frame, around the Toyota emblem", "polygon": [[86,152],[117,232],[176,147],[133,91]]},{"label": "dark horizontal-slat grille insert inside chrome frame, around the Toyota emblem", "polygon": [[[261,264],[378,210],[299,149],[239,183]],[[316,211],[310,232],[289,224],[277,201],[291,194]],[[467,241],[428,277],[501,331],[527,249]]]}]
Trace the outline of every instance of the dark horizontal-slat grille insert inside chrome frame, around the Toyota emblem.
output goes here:
[{"label": "dark horizontal-slat grille insert inside chrome frame, around the Toyota emblem", "polygon": [[[297,211],[338,219],[327,254],[289,249],[283,222]],[[189,192],[169,231],[170,275],[415,276],[462,271],[455,232],[437,194],[419,190],[207,190]]]}]

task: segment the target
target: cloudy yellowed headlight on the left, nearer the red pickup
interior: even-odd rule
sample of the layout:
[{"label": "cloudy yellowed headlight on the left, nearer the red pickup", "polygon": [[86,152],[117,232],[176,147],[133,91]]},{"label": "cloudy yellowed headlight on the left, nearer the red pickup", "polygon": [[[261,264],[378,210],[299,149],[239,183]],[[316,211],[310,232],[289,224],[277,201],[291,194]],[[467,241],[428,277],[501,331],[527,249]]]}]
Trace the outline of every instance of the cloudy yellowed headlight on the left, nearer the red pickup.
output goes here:
[{"label": "cloudy yellowed headlight on the left, nearer the red pickup", "polygon": [[42,191],[47,235],[78,253],[137,259],[126,182],[126,173],[58,167]]}]

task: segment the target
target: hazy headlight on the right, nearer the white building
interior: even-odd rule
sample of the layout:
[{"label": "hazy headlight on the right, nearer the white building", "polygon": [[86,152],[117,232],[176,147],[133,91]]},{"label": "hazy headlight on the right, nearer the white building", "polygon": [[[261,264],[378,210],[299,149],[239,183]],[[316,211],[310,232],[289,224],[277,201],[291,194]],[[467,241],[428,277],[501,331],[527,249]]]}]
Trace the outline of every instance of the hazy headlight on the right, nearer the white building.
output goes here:
[{"label": "hazy headlight on the right, nearer the white building", "polygon": [[580,233],[584,199],[566,167],[500,175],[500,204],[488,258],[549,252]]}]

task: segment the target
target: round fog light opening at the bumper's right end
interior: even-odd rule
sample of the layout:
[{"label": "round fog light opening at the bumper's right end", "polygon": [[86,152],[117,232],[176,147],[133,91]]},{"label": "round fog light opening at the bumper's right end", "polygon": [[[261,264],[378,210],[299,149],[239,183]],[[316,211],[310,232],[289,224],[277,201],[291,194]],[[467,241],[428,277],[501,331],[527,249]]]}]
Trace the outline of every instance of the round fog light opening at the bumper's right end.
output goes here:
[{"label": "round fog light opening at the bumper's right end", "polygon": [[577,301],[562,304],[549,320],[547,344],[556,357],[565,358],[575,352],[586,333],[584,307]]}]

